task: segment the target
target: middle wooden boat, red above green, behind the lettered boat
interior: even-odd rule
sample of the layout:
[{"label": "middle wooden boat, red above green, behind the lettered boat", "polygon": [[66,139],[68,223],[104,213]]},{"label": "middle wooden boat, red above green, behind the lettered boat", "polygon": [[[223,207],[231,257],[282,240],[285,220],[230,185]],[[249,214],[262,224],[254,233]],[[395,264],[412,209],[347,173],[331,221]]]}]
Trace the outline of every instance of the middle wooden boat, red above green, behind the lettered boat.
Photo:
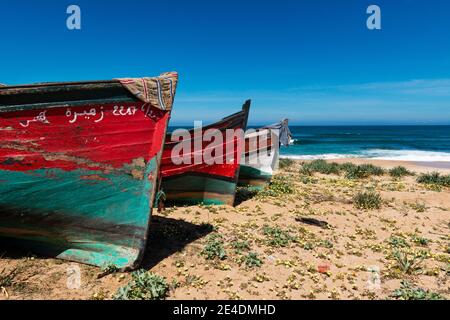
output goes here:
[{"label": "middle wooden boat, red above green, behind the lettered boat", "polygon": [[[226,130],[238,132],[241,129],[242,133],[245,131],[250,103],[248,100],[243,105],[242,111],[203,127],[199,136],[195,136],[194,129],[190,130],[189,140],[184,141],[189,145],[188,151],[180,154],[180,157],[190,159],[186,161],[187,163],[174,162],[173,150],[180,142],[173,141],[172,135],[167,136],[161,162],[161,190],[165,194],[166,204],[234,204],[244,135],[236,134],[233,139],[227,141]],[[211,151],[210,142],[202,139],[210,129],[219,130],[223,142],[219,147],[224,152],[220,155],[213,154],[213,163],[205,161],[195,163],[196,144],[201,146],[197,155],[204,156]],[[228,148],[230,144],[233,145],[232,148]],[[227,150],[232,151],[227,153]]]}]

